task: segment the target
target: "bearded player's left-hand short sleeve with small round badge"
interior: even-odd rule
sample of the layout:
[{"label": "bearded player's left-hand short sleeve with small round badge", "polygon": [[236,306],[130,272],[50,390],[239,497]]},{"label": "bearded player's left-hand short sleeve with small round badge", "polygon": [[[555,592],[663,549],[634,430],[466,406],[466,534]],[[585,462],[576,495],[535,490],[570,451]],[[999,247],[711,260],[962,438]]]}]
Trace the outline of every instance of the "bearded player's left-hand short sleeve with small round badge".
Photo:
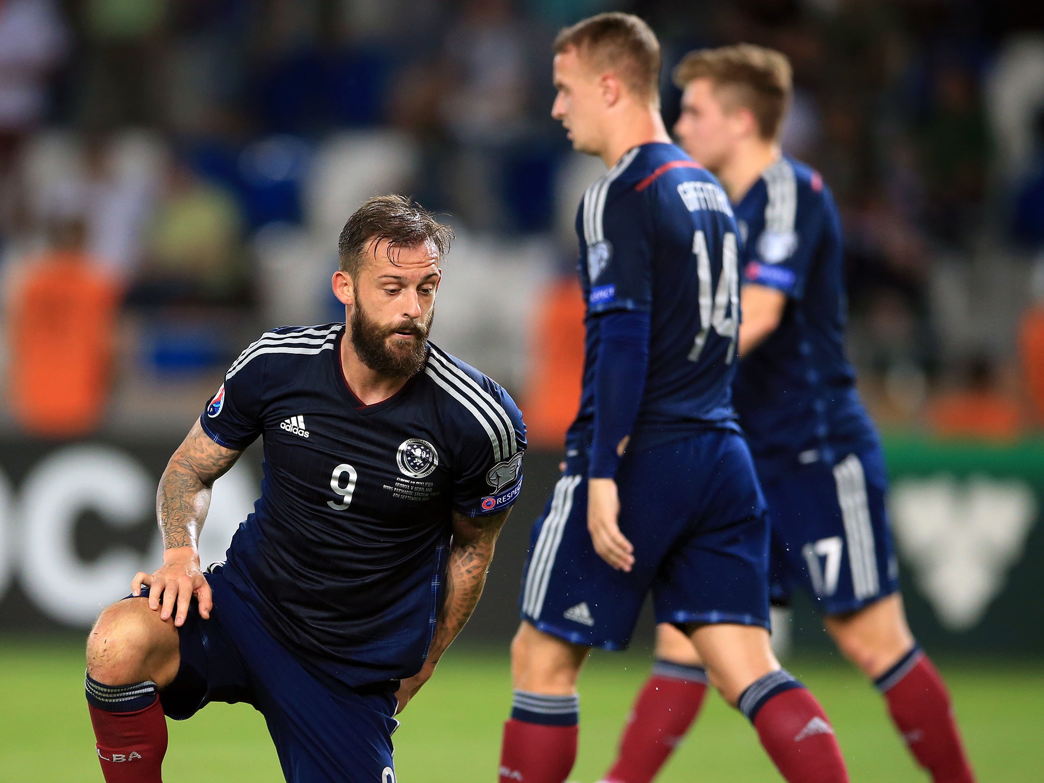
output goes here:
[{"label": "bearded player's left-hand short sleeve with small round badge", "polygon": [[[243,362],[243,359],[246,361]],[[218,446],[242,451],[261,434],[265,357],[243,353],[207,402],[199,425]]]}]

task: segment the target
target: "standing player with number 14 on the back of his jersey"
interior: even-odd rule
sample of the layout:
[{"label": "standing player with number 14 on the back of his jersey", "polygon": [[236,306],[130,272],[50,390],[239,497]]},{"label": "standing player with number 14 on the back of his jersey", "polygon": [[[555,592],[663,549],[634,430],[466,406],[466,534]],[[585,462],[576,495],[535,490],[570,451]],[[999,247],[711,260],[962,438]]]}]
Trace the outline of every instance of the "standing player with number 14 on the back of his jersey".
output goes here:
[{"label": "standing player with number 14 on the back of his jersey", "polygon": [[736,222],[714,176],[670,143],[659,72],[659,43],[631,15],[592,17],[555,43],[552,116],[609,171],[577,211],[580,408],[532,529],[500,781],[567,779],[584,660],[626,647],[651,592],[784,776],[839,783],[822,708],[768,645],[765,505],[731,404]]}]

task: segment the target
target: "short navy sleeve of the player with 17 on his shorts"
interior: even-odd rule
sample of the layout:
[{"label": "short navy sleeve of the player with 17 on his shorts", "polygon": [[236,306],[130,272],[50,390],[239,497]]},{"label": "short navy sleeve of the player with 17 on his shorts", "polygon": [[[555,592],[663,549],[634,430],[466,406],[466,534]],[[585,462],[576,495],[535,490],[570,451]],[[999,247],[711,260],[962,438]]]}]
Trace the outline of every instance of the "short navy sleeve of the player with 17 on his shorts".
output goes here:
[{"label": "short navy sleeve of the player with 17 on his shorts", "polygon": [[812,193],[805,195],[805,204],[799,200],[792,227],[769,226],[749,238],[749,261],[743,270],[746,282],[775,288],[793,300],[805,294],[805,281],[826,215],[822,198],[813,197]]}]

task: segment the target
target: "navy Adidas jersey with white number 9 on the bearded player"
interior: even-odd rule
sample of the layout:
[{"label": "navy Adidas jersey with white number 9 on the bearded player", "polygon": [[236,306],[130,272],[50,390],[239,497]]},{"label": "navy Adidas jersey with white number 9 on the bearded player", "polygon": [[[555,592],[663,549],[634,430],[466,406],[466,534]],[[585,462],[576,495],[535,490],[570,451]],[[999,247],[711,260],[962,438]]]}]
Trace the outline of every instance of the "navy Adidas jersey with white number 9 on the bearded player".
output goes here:
[{"label": "navy Adidas jersey with white number 9 on the bearded player", "polygon": [[525,427],[500,386],[430,343],[423,372],[363,405],[341,371],[343,333],[266,332],[199,422],[230,449],[264,443],[261,497],[232,539],[226,578],[313,670],[358,686],[421,669],[452,513],[515,502]]}]

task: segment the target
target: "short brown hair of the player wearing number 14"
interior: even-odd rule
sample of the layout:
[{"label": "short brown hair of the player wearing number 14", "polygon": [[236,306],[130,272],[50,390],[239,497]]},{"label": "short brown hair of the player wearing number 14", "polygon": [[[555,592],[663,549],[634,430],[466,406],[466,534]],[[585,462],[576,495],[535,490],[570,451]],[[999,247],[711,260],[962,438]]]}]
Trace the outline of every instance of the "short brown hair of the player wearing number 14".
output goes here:
[{"label": "short brown hair of the player wearing number 14", "polygon": [[554,39],[554,53],[575,48],[599,70],[613,71],[635,95],[659,105],[660,42],[633,14],[611,11],[566,27]]}]

